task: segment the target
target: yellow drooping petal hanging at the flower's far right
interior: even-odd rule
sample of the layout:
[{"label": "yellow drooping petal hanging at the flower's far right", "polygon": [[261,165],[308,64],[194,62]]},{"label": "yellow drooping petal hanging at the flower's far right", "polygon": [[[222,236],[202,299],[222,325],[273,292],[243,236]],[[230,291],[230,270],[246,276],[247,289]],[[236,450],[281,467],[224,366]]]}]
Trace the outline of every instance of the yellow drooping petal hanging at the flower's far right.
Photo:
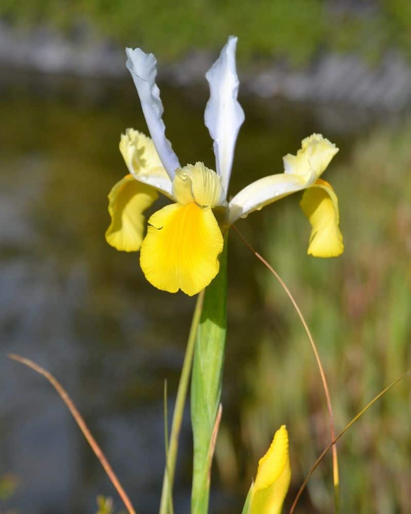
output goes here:
[{"label": "yellow drooping petal hanging at the flower's far right", "polygon": [[300,206],[312,230],[307,253],[315,257],[337,257],[344,251],[338,200],[325,180],[318,179],[303,195]]}]

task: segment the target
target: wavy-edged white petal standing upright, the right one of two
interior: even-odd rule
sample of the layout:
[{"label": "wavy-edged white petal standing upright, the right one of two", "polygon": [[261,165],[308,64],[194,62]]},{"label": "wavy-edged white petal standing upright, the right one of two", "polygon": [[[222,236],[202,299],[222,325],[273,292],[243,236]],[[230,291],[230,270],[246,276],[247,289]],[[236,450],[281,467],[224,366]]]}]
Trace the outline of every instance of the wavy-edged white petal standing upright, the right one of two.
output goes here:
[{"label": "wavy-edged white petal standing upright, the right one of two", "polygon": [[238,131],[244,122],[244,111],[237,101],[238,76],[235,67],[237,38],[230,36],[220,57],[208,70],[210,99],[206,105],[204,122],[214,140],[214,154],[221,185],[228,191],[234,148]]}]

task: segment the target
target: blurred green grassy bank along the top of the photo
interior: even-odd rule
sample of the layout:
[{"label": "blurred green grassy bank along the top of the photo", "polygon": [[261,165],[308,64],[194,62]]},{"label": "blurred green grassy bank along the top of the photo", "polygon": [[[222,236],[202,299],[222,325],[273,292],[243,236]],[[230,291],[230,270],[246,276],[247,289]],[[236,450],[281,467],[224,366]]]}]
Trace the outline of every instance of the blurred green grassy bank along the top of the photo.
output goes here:
[{"label": "blurred green grassy bank along the top of the photo", "polygon": [[408,0],[3,0],[0,16],[20,26],[50,24],[75,32],[86,21],[99,35],[142,46],[164,60],[192,49],[217,51],[228,34],[239,36],[239,58],[309,63],[322,50],[350,51],[373,61],[387,48],[411,48]]}]

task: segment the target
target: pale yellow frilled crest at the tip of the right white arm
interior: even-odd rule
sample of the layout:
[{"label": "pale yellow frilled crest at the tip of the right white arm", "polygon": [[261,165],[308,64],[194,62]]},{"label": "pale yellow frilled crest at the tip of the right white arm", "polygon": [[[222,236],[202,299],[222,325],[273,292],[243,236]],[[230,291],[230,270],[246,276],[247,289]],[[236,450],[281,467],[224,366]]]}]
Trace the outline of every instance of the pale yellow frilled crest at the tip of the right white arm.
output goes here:
[{"label": "pale yellow frilled crest at the tip of the right white arm", "polygon": [[283,157],[284,171],[304,176],[307,181],[310,181],[311,176],[315,180],[338,151],[337,146],[321,134],[311,134],[301,141],[301,149],[297,151],[297,155],[287,154]]}]

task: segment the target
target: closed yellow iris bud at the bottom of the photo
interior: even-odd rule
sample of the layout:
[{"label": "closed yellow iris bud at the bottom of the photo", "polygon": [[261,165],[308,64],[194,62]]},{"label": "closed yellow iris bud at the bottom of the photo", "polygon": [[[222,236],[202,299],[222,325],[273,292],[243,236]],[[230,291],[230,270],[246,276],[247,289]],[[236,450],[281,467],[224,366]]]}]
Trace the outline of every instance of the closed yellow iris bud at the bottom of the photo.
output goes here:
[{"label": "closed yellow iris bud at the bottom of the photo", "polygon": [[279,514],[291,480],[288,453],[288,432],[283,425],[258,463],[252,498],[251,514]]}]

